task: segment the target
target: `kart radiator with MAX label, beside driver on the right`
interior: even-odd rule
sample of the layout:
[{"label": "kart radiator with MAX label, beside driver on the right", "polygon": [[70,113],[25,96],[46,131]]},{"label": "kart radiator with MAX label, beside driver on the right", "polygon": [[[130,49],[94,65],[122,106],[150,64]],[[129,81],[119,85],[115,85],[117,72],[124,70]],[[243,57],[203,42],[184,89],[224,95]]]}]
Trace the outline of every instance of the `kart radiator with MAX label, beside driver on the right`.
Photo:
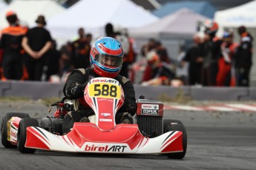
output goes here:
[{"label": "kart radiator with MAX label, beside driver on the right", "polygon": [[156,137],[163,134],[163,103],[138,99],[136,115],[142,135]]}]

